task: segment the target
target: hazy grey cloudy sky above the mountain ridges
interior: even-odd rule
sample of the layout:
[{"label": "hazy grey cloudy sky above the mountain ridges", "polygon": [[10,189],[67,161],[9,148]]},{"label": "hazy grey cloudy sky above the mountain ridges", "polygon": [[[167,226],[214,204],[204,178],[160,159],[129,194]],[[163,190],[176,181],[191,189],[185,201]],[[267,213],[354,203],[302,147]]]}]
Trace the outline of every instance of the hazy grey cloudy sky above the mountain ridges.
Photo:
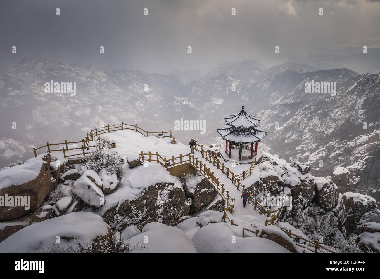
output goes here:
[{"label": "hazy grey cloudy sky above the mountain ridges", "polygon": [[35,56],[160,73],[250,58],[273,64],[275,46],[282,56],[379,47],[379,27],[374,0],[2,0],[0,66]]}]

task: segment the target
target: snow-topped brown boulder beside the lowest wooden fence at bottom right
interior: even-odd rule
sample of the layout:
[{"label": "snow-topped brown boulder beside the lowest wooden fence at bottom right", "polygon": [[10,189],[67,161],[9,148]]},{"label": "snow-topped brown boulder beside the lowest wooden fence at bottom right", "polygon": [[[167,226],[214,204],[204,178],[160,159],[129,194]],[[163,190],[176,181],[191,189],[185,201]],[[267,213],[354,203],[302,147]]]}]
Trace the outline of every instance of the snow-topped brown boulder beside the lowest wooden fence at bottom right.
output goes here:
[{"label": "snow-topped brown boulder beside the lowest wooden fence at bottom right", "polygon": [[294,241],[279,227],[269,225],[261,230],[260,237],[274,241],[292,253],[302,253],[302,249],[298,247]]}]

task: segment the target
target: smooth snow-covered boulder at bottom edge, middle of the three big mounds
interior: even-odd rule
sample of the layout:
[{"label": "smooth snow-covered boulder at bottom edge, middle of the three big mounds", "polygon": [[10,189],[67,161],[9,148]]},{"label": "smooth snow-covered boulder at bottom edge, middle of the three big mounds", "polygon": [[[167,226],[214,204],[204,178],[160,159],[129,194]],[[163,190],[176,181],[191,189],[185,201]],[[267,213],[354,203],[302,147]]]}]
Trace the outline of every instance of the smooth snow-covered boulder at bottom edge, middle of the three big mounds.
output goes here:
[{"label": "smooth snow-covered boulder at bottom edge, middle of the three big mounds", "polygon": [[188,236],[176,227],[156,227],[129,240],[132,253],[196,253]]}]

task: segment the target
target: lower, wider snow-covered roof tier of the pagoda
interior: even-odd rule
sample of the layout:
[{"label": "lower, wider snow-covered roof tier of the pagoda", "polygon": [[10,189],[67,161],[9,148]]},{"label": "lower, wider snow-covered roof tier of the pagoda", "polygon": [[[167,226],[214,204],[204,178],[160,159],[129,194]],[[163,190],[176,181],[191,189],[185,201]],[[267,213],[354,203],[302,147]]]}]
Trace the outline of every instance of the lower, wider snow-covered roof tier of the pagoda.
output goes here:
[{"label": "lower, wider snow-covered roof tier of the pagoda", "polygon": [[250,142],[257,142],[260,141],[263,137],[265,137],[268,132],[261,131],[256,128],[251,128],[249,131],[241,131],[235,130],[233,127],[226,127],[223,129],[217,129],[220,136],[222,136],[222,139],[229,140],[230,142],[244,142],[244,143],[250,143]]}]

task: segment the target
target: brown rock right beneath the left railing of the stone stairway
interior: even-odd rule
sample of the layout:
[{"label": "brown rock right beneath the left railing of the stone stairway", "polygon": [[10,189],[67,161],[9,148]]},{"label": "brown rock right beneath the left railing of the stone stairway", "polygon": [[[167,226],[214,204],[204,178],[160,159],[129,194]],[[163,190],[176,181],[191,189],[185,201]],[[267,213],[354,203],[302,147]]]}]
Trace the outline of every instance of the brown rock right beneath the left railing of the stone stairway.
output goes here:
[{"label": "brown rock right beneath the left railing of the stone stairway", "polygon": [[187,199],[191,199],[189,213],[198,211],[203,206],[207,205],[207,203],[211,202],[218,194],[206,178],[203,178],[198,184],[196,184],[195,188],[188,189],[188,187],[185,186],[184,190]]}]

